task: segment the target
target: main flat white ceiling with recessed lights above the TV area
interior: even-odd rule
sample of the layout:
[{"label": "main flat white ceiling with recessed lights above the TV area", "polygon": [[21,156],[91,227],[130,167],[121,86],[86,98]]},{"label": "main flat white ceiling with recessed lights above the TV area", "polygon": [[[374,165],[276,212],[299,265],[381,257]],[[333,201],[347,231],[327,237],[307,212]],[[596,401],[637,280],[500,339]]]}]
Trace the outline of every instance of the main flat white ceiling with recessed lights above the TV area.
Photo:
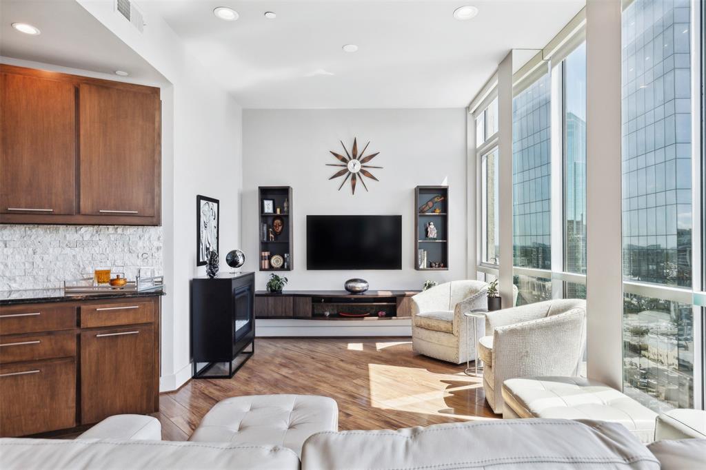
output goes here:
[{"label": "main flat white ceiling with recessed lights above the TV area", "polygon": [[[544,47],[585,1],[138,4],[160,14],[245,108],[416,108],[465,107],[510,49]],[[468,4],[476,18],[453,18]],[[217,6],[234,8],[239,20],[216,18]],[[349,43],[359,51],[343,52]]]}]

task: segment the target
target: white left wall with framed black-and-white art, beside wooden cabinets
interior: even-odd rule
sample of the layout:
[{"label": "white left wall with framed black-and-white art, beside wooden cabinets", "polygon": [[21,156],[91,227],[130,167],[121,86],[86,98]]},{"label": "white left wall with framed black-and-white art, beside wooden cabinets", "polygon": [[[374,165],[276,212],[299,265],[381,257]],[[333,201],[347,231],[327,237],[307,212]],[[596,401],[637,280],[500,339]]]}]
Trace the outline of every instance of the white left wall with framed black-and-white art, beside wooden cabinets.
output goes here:
[{"label": "white left wall with framed black-and-white art, beside wooden cabinets", "polygon": [[225,253],[240,244],[241,107],[191,56],[179,36],[151,9],[140,34],[113,11],[112,0],[76,0],[172,83],[162,89],[162,225],[167,296],[162,301],[161,390],[191,377],[189,282],[196,267],[196,195],[220,200],[221,269]]}]

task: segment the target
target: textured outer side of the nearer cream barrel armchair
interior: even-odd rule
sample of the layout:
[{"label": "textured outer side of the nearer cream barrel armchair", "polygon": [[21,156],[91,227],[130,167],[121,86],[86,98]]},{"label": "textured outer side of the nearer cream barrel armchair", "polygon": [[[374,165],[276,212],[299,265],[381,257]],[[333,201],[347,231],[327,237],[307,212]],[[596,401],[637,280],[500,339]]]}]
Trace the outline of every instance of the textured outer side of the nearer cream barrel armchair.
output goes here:
[{"label": "textured outer side of the nearer cream barrel armchair", "polygon": [[496,385],[537,375],[574,375],[583,354],[586,314],[580,308],[551,317],[496,328]]}]

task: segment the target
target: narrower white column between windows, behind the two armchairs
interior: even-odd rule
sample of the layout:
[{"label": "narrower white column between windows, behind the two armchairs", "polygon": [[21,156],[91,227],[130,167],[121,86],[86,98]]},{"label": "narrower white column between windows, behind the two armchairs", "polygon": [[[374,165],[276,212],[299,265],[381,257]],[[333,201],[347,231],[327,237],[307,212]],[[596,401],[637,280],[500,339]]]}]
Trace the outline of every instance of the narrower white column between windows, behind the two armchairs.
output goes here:
[{"label": "narrower white column between windows, behind the two armchairs", "polygon": [[498,206],[503,306],[513,305],[513,52],[498,66]]}]

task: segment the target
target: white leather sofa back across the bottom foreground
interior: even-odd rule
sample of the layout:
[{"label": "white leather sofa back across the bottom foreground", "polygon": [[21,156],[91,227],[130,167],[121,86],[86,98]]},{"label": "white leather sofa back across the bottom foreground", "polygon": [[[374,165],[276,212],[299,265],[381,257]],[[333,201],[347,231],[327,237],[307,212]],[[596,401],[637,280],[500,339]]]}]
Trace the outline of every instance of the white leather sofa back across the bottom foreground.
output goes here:
[{"label": "white leather sofa back across the bottom foreground", "polygon": [[[131,418],[122,419],[121,426],[143,426],[132,426]],[[147,419],[153,421],[151,433],[159,423]],[[693,440],[702,445],[662,441],[653,454],[617,423],[523,419],[325,431],[304,442],[300,461],[297,452],[279,445],[112,438],[112,433],[126,435],[121,426],[100,423],[94,438],[76,440],[0,439],[0,469],[658,470],[660,456],[667,459],[663,469],[670,468],[669,462],[678,462],[680,469],[699,468],[698,456],[706,452],[706,440]],[[690,454],[680,453],[685,449]]]}]

